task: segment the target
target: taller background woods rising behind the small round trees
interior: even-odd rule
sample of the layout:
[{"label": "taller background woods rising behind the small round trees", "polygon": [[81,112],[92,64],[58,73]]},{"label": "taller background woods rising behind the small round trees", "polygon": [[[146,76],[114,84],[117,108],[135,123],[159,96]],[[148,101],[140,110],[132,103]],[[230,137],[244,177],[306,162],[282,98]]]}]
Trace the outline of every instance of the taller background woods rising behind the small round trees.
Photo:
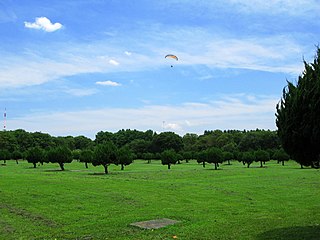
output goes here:
[{"label": "taller background woods rising behind the small round trees", "polygon": [[116,133],[98,132],[94,140],[85,136],[54,137],[47,133],[26,132],[18,129],[0,132],[0,150],[25,152],[31,147],[49,149],[57,146],[76,149],[93,149],[96,145],[112,142],[116,147],[127,146],[138,158],[144,153],[160,153],[164,150],[201,151],[210,147],[217,147],[228,151],[249,151],[258,149],[281,148],[276,131],[205,131],[202,135],[187,133],[183,137],[173,132],[156,133],[152,130],[120,130]]}]

